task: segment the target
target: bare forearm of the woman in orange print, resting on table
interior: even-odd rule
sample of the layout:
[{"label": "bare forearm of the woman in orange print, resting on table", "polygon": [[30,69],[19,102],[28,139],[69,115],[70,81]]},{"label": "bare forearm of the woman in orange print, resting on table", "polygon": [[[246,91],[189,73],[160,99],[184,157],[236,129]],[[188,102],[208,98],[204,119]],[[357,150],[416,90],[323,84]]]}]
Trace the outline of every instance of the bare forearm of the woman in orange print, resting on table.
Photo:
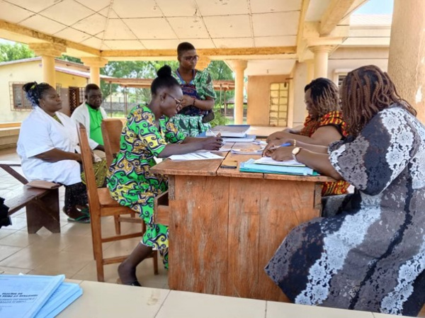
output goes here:
[{"label": "bare forearm of the woman in orange print, resting on table", "polygon": [[336,142],[338,140],[341,140],[342,135],[341,132],[339,132],[335,126],[328,125],[324,127],[319,127],[319,129],[314,132],[312,137],[302,136],[302,135],[295,135],[288,132],[280,132],[279,134],[280,138],[277,138],[277,136],[269,136],[267,138],[267,142],[273,142],[273,140],[276,139],[295,139],[300,142],[305,142],[307,144],[318,144],[322,146],[328,146],[331,142]]}]

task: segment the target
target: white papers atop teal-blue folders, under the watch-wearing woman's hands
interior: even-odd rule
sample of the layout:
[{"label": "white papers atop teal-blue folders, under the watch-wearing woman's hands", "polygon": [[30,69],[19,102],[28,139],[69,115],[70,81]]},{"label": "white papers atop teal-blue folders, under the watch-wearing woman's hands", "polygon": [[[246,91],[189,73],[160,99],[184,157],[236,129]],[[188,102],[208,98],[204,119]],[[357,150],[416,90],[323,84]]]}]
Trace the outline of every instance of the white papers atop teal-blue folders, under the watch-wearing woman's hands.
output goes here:
[{"label": "white papers atop teal-blue folders, under the watch-wearing woman's hands", "polygon": [[261,159],[249,159],[241,162],[239,166],[241,172],[261,172],[263,174],[295,174],[298,176],[319,176],[316,171],[300,164],[298,161],[276,161],[270,157]]}]

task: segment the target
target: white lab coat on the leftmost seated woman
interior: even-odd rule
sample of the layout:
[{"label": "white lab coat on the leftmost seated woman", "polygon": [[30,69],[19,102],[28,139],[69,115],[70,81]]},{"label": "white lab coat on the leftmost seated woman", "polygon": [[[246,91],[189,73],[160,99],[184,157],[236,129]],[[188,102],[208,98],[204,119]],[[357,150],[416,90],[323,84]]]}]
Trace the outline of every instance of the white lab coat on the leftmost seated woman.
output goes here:
[{"label": "white lab coat on the leftmost seated woman", "polygon": [[57,148],[74,152],[78,147],[77,125],[63,113],[56,113],[63,125],[40,107],[23,120],[17,152],[21,157],[23,174],[28,181],[44,180],[70,186],[81,182],[80,164],[75,160],[47,162],[35,157]]}]

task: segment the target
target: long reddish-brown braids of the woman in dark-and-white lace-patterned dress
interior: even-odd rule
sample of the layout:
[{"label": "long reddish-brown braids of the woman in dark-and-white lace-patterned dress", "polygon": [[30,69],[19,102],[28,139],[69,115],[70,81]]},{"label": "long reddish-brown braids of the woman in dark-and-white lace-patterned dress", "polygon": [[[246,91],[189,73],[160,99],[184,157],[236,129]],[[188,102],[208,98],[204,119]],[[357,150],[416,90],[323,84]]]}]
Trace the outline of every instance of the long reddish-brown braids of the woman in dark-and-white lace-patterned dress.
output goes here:
[{"label": "long reddish-brown braids of the woman in dark-and-white lace-patterned dress", "polygon": [[397,104],[416,116],[416,110],[399,96],[386,72],[375,65],[349,72],[341,87],[342,113],[347,132],[356,137],[381,110]]}]

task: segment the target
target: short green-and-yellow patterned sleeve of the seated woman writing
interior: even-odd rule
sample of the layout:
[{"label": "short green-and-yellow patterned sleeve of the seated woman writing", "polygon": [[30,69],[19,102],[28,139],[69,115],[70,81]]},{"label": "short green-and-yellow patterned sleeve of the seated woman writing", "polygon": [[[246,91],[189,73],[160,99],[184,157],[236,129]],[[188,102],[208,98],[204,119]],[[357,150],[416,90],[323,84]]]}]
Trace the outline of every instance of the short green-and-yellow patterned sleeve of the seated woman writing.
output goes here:
[{"label": "short green-and-yellow patterned sleeve of the seated woman writing", "polygon": [[154,125],[154,114],[146,110],[140,110],[140,112],[135,113],[135,122],[137,125],[132,125],[132,127],[137,127],[137,134],[140,140],[154,157],[158,157],[164,150],[166,141],[157,126]]}]

